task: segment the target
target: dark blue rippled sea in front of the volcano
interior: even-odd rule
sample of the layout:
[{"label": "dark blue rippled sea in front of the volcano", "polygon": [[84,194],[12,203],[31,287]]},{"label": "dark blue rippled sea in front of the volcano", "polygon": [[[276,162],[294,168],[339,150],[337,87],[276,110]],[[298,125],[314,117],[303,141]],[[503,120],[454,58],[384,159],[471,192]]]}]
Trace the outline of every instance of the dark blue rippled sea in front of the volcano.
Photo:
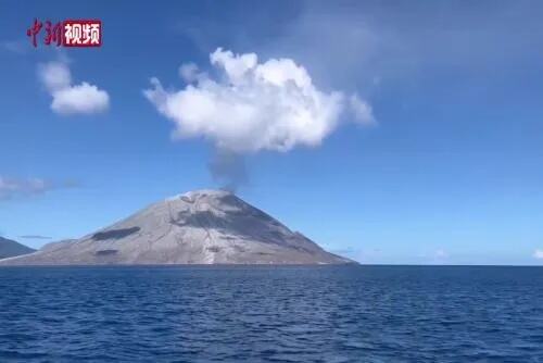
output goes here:
[{"label": "dark blue rippled sea in front of the volcano", "polygon": [[543,362],[543,268],[0,268],[0,362]]}]

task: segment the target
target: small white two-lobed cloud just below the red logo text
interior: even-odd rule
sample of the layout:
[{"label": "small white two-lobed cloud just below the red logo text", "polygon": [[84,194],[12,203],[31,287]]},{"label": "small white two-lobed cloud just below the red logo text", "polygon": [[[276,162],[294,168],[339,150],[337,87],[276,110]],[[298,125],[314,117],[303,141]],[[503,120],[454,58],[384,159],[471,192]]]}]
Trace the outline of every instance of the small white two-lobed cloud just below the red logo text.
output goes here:
[{"label": "small white two-lobed cloud just below the red logo text", "polygon": [[110,96],[97,86],[83,82],[72,85],[72,74],[65,62],[49,62],[38,66],[38,76],[52,96],[51,110],[63,115],[104,112]]}]

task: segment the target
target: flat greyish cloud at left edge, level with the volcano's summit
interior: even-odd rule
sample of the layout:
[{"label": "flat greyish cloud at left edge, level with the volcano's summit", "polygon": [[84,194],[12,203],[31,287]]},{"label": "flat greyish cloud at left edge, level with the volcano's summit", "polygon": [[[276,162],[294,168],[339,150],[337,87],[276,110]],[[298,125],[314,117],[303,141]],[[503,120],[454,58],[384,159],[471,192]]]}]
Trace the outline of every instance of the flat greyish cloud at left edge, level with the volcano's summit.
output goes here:
[{"label": "flat greyish cloud at left edge, level with the volcano's summit", "polygon": [[10,178],[0,176],[0,200],[45,195],[51,190],[76,187],[75,182],[51,182],[42,178]]}]

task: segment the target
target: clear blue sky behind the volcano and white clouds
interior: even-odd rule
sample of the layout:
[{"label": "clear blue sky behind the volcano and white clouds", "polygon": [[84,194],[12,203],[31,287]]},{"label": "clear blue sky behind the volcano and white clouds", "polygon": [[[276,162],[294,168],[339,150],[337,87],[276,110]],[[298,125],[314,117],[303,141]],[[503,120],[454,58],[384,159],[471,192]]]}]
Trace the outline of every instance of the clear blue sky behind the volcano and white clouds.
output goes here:
[{"label": "clear blue sky behind the volcano and white clouds", "polygon": [[[243,153],[240,197],[365,263],[543,262],[541,2],[3,1],[0,14],[0,177],[22,186],[0,200],[3,236],[39,247],[21,236],[79,237],[219,187],[216,142],[173,139],[178,125],[143,91],[151,77],[185,89],[179,66],[212,73],[220,47],[291,59],[375,120],[345,112],[319,146]],[[35,17],[100,18],[103,46],[34,49]],[[54,112],[39,77],[50,62],[105,91],[108,108]]]}]

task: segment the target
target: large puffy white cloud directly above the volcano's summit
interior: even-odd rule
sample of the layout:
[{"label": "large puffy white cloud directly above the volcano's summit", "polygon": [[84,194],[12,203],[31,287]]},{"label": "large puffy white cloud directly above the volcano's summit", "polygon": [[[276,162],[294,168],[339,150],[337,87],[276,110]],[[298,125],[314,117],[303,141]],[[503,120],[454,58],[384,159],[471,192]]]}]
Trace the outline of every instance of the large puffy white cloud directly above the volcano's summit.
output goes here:
[{"label": "large puffy white cloud directly above the volcano's summit", "polygon": [[[357,96],[324,91],[291,59],[258,63],[255,53],[233,54],[218,48],[210,54],[213,78],[193,66],[180,70],[192,79],[181,90],[166,90],[151,79],[144,96],[174,121],[178,137],[205,137],[233,152],[289,151],[318,146],[340,124],[344,111],[372,121],[371,108]],[[190,72],[189,72],[190,71]]]}]

